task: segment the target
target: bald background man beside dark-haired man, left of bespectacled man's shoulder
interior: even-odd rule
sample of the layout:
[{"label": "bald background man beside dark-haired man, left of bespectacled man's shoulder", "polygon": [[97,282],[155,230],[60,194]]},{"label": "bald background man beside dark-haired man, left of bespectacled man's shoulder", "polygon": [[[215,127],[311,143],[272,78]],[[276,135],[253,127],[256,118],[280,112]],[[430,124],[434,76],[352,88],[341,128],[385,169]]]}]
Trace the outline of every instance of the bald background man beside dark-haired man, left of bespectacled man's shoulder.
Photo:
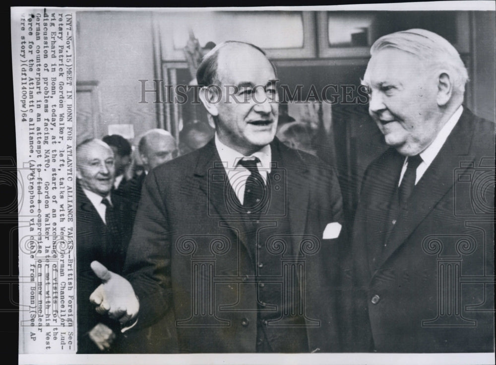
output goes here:
[{"label": "bald background man beside dark-haired man, left of bespectacled man's shoulder", "polygon": [[124,196],[131,203],[131,222],[134,222],[136,216],[146,175],[155,167],[178,156],[176,140],[168,131],[163,129],[147,131],[139,140],[138,151],[143,162],[144,172],[134,176],[124,187]]}]

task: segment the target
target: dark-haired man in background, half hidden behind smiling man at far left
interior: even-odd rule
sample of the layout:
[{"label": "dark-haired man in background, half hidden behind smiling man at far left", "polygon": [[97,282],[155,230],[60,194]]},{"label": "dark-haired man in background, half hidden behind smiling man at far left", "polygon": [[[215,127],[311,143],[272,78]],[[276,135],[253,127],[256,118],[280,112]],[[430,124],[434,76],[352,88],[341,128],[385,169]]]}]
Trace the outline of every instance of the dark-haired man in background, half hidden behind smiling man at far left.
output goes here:
[{"label": "dark-haired man in background, half hidden behind smiling man at far left", "polygon": [[105,136],[102,141],[114,151],[114,164],[116,177],[114,180],[114,193],[121,195],[124,191],[124,185],[127,182],[125,172],[131,164],[131,144],[120,135]]}]

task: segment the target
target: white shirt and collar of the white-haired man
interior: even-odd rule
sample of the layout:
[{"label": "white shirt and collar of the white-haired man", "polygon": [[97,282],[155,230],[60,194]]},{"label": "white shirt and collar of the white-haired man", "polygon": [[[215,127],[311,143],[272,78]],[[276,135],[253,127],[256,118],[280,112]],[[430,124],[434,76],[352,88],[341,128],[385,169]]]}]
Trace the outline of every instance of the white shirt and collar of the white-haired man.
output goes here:
[{"label": "white shirt and collar of the white-haired man", "polygon": [[[456,109],[456,112],[453,113],[451,118],[449,118],[446,124],[441,128],[441,130],[437,134],[436,138],[434,138],[434,141],[431,143],[431,145],[429,145],[429,147],[427,147],[426,149],[424,149],[422,152],[419,153],[420,157],[422,158],[422,162],[420,163],[419,167],[417,167],[416,176],[415,176],[415,185],[417,185],[420,178],[426,172],[427,168],[434,161],[435,156],[437,156],[437,153],[439,153],[439,151],[441,150],[449,134],[451,133],[453,128],[455,128],[456,123],[458,123],[458,120],[460,119],[462,112],[463,112],[463,106],[460,105],[458,109]],[[407,161],[408,161],[408,157],[405,157],[405,162],[403,163],[403,168],[401,169],[401,175],[400,175],[400,180],[398,182],[398,186],[400,186],[401,180],[403,180],[403,175],[406,172],[406,167],[408,166]]]}]

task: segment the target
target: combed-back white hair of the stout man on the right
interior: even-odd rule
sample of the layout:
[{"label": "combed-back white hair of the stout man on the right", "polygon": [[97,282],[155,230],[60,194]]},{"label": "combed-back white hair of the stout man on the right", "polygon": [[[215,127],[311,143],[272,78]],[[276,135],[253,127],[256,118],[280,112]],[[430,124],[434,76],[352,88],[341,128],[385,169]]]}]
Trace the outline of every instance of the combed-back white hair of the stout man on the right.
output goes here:
[{"label": "combed-back white hair of the stout man on the right", "polygon": [[409,29],[387,34],[377,39],[371,56],[380,50],[395,48],[410,53],[426,62],[430,68],[449,72],[455,91],[463,95],[468,73],[458,51],[440,35],[425,29]]}]

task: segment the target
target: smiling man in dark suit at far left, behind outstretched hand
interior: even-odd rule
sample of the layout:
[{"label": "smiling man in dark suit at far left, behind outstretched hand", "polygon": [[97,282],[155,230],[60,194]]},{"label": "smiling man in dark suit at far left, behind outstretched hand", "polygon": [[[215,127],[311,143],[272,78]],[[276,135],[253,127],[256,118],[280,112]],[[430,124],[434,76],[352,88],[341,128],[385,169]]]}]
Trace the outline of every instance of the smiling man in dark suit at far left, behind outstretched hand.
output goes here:
[{"label": "smiling man in dark suit at far left, behind outstretched hand", "polygon": [[[76,148],[76,247],[78,353],[99,353],[115,347],[120,325],[95,312],[89,297],[99,285],[90,263],[94,260],[122,273],[130,238],[125,203],[111,197],[114,183],[112,149],[99,140]],[[116,330],[117,328],[117,330]]]}]

